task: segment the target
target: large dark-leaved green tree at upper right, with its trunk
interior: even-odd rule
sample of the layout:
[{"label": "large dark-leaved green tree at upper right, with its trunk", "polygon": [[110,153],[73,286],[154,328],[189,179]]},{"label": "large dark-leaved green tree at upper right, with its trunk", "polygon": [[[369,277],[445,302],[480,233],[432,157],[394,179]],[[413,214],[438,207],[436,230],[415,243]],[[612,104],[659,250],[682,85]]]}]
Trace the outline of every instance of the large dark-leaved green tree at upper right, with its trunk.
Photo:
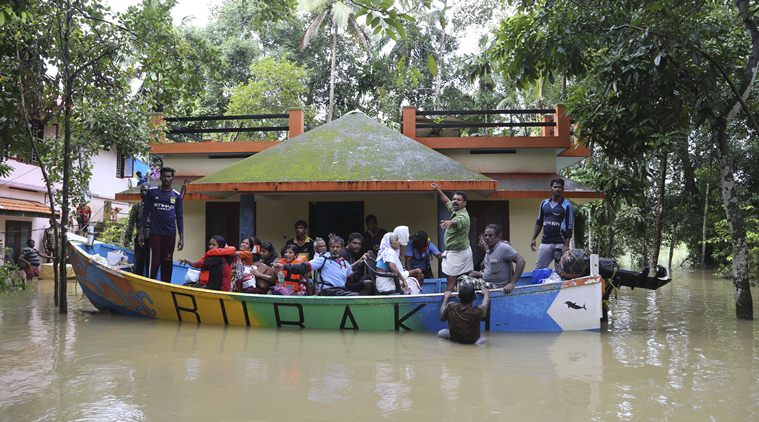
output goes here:
[{"label": "large dark-leaved green tree at upper right, with its trunk", "polygon": [[[732,149],[743,140],[756,143],[759,129],[755,110],[744,100],[753,89],[759,62],[756,8],[745,0],[514,3],[517,13],[502,22],[487,58],[523,88],[557,76],[568,78],[566,102],[580,124],[578,134],[602,155],[599,161],[640,176],[634,198],[648,203],[644,213],[650,224],[643,227],[654,229],[647,235],[660,239],[663,227],[659,210],[666,207],[667,194],[656,188],[657,181],[682,183],[684,189],[674,190],[682,194],[679,202],[698,210],[704,199],[698,187],[703,184],[694,179],[694,167],[703,155],[693,156],[692,151],[698,143],[707,144],[702,151],[714,151],[733,236],[733,275],[740,297],[736,312],[750,318],[746,236],[737,206],[742,181],[735,177],[739,168]],[[736,131],[736,123],[744,129]],[[751,130],[745,136],[747,126]],[[672,170],[679,174],[666,176]],[[607,179],[591,174],[593,186]],[[610,195],[613,191],[607,200],[614,202]],[[654,243],[658,251],[659,242]]]}]

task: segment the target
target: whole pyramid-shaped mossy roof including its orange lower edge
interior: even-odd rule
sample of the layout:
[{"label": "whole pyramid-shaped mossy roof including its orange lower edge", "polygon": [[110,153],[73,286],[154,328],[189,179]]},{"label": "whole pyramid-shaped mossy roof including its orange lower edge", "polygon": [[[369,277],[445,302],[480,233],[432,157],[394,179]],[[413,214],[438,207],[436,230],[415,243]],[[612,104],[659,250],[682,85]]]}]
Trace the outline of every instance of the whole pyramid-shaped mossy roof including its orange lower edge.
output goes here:
[{"label": "whole pyramid-shaped mossy roof including its orange lower edge", "polygon": [[493,191],[496,182],[360,112],[188,185],[194,192]]}]

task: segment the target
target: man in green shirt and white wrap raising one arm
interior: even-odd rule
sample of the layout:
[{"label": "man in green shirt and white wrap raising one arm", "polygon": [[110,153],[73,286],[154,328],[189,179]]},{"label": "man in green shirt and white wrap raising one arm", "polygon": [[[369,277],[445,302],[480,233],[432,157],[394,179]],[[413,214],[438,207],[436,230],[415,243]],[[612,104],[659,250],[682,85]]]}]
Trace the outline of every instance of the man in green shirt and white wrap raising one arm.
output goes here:
[{"label": "man in green shirt and white wrap raising one arm", "polygon": [[440,190],[437,183],[432,189],[438,193],[440,201],[451,212],[451,218],[440,221],[440,228],[445,230],[445,252],[443,252],[443,273],[448,279],[446,290],[456,288],[456,279],[474,269],[472,249],[469,247],[469,213],[466,210],[466,194],[457,191],[449,199]]}]

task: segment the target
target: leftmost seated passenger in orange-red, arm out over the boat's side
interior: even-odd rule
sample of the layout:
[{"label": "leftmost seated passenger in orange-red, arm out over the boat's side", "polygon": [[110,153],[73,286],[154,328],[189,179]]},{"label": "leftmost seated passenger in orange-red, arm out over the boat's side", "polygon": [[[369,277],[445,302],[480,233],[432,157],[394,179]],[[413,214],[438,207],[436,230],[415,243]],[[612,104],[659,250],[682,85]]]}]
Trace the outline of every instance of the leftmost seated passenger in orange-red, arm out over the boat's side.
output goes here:
[{"label": "leftmost seated passenger in orange-red, arm out over the boat's side", "polygon": [[227,241],[219,236],[208,240],[208,251],[197,262],[180,259],[179,262],[200,269],[198,283],[209,290],[232,290],[232,262],[235,259],[235,247],[227,246]]}]

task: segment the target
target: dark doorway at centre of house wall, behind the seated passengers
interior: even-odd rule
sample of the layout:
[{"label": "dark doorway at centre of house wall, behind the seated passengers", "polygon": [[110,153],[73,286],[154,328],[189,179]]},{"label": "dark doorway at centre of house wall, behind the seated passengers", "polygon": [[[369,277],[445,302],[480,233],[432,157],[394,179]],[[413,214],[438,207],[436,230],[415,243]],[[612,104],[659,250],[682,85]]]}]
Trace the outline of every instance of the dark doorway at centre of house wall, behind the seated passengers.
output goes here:
[{"label": "dark doorway at centre of house wall, behind the seated passengers", "polygon": [[364,202],[311,202],[308,223],[311,237],[328,240],[334,233],[347,241],[349,234],[364,229]]}]

